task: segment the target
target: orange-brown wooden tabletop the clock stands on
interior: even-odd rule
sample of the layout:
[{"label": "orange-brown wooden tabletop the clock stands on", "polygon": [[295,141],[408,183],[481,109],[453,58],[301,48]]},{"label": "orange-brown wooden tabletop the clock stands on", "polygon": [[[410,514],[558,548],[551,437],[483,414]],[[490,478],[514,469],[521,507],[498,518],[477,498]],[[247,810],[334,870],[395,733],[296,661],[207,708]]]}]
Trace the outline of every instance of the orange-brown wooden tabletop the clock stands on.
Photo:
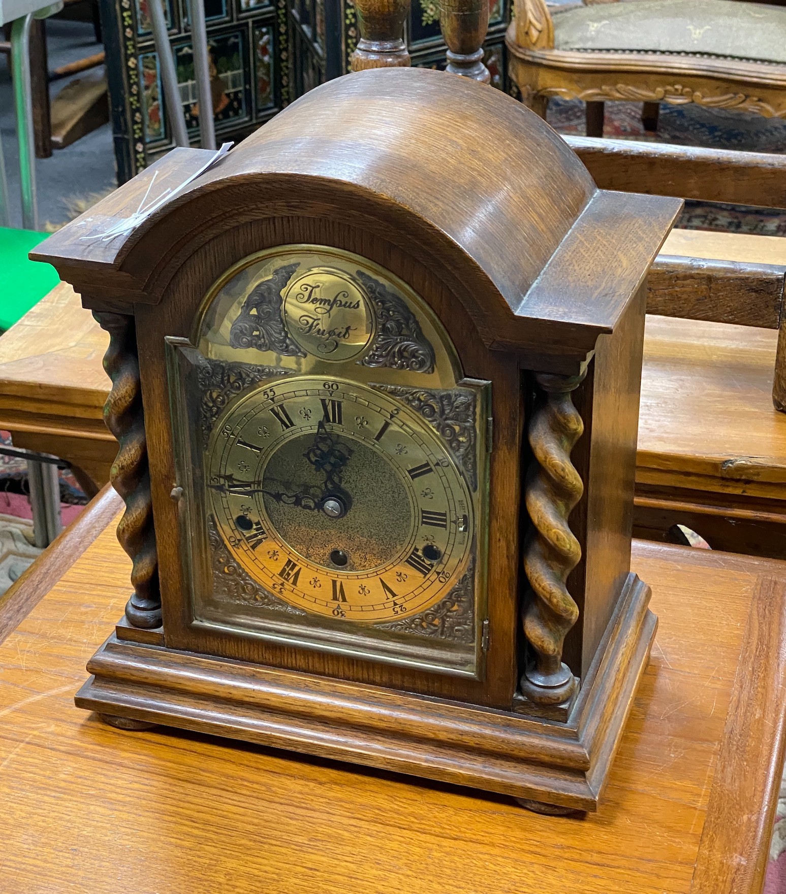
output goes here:
[{"label": "orange-brown wooden tabletop the clock stands on", "polygon": [[121,732],[77,710],[129,590],[102,530],[116,497],[97,499],[0,599],[0,640],[13,616],[0,645],[4,894],[761,889],[784,743],[786,562],[635,544],[660,615],[652,662],[599,812],[565,819],[216,738]]}]

